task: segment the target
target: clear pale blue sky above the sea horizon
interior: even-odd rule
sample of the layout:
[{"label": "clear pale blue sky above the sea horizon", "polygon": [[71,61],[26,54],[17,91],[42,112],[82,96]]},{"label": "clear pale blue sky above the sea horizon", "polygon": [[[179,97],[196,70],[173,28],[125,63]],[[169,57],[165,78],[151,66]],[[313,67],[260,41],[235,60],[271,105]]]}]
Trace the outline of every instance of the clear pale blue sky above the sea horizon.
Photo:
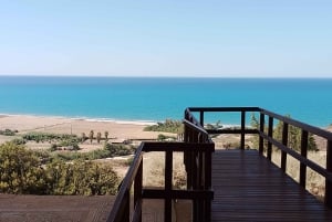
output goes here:
[{"label": "clear pale blue sky above the sea horizon", "polygon": [[0,2],[0,75],[332,77],[332,0]]}]

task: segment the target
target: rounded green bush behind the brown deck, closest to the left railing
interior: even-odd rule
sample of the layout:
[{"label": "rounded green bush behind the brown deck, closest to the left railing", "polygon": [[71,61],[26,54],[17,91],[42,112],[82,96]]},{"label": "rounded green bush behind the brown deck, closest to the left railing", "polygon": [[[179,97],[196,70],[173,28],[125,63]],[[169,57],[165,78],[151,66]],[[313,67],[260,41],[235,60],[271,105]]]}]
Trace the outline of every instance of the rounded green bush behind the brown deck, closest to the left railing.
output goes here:
[{"label": "rounded green bush behind the brown deck, closest to the left railing", "polygon": [[48,194],[103,195],[117,191],[118,177],[103,163],[56,160],[46,166],[45,176]]}]

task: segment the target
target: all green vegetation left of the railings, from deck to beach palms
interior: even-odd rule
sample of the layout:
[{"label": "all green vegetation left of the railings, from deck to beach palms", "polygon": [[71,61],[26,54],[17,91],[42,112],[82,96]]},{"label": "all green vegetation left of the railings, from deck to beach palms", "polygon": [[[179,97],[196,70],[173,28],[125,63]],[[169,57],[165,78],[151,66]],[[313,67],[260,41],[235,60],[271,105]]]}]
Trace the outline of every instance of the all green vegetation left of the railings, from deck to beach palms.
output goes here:
[{"label": "all green vegetation left of the railings, from deck to beach palms", "polygon": [[[3,131],[2,131],[3,133]],[[6,135],[12,131],[4,130]],[[115,194],[118,178],[106,163],[92,161],[115,156],[132,155],[132,145],[107,142],[101,149],[79,152],[79,144],[93,138],[66,134],[28,133],[0,145],[0,192],[15,194]],[[102,140],[102,134],[96,134]],[[33,151],[27,141],[49,142],[50,149]],[[61,149],[61,150],[60,150]],[[66,150],[66,151],[63,151]],[[129,165],[132,159],[125,165]]]}]

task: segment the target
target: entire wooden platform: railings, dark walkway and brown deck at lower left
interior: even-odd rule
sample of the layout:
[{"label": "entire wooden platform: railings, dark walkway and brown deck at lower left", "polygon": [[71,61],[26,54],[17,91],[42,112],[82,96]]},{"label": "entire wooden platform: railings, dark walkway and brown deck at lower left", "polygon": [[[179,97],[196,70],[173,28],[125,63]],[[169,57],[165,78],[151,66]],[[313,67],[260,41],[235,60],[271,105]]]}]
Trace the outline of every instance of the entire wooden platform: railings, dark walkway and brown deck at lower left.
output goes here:
[{"label": "entire wooden platform: railings, dark walkway and brown deck at lower left", "polygon": [[[239,125],[207,127],[211,114],[238,114]],[[258,116],[257,126],[248,114]],[[184,129],[183,141],[142,142],[116,197],[1,194],[0,221],[332,221],[332,133],[259,107],[187,108]],[[212,138],[222,134],[239,135],[238,147],[216,149]],[[323,141],[323,163],[309,157],[313,135]],[[249,148],[249,137],[257,147]],[[143,183],[146,152],[164,154],[163,187]],[[183,189],[175,187],[175,154],[184,157]],[[288,175],[290,158],[298,177]],[[309,171],[324,181],[322,200],[309,192]]]}]

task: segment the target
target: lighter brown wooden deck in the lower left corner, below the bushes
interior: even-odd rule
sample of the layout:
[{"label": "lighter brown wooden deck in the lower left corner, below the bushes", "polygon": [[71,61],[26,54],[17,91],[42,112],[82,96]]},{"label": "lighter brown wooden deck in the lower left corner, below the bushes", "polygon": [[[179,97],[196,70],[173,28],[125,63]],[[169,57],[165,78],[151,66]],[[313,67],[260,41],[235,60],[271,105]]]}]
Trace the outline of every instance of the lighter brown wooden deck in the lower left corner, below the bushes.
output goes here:
[{"label": "lighter brown wooden deck in the lower left corner, below the bushes", "polygon": [[0,222],[103,222],[114,195],[0,194]]}]

